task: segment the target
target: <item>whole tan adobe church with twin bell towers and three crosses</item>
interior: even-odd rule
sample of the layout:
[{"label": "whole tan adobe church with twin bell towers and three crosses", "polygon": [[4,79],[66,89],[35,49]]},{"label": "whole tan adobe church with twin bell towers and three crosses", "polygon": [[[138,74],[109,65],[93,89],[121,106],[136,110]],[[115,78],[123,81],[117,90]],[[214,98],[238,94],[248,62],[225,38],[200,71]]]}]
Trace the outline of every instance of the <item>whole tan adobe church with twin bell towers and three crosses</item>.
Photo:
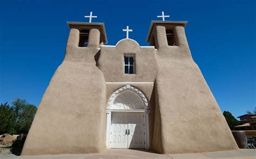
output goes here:
[{"label": "whole tan adobe church with twin bell towers and three crosses", "polygon": [[[152,21],[146,42],[105,45],[104,23],[68,22],[65,58],[38,106],[22,155],[238,149],[188,47],[187,21]],[[210,48],[209,48],[210,49]],[[206,50],[207,53],[207,50]]]}]

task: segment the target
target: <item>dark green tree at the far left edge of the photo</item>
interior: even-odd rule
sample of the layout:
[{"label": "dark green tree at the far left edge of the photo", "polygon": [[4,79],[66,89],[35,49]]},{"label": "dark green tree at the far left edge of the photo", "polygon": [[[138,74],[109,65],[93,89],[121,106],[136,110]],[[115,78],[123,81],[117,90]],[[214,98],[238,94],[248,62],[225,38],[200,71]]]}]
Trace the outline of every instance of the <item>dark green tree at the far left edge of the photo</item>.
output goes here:
[{"label": "dark green tree at the far left edge of the photo", "polygon": [[0,134],[10,133],[16,134],[14,129],[15,113],[13,107],[8,102],[0,105]]}]

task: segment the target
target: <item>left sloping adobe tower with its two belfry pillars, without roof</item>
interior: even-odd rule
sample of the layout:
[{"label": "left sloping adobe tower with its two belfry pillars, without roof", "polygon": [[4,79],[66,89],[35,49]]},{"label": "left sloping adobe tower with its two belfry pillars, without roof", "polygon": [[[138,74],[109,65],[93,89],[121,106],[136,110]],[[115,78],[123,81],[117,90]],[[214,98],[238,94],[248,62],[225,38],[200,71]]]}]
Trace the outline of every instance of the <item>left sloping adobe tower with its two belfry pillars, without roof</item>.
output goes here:
[{"label": "left sloping adobe tower with its two belfry pillars, without roof", "polygon": [[[105,80],[96,67],[99,32],[78,47],[71,28],[65,59],[46,89],[26,138],[22,155],[86,154],[105,149]],[[96,41],[95,41],[96,40]],[[93,95],[93,96],[92,96]]]}]

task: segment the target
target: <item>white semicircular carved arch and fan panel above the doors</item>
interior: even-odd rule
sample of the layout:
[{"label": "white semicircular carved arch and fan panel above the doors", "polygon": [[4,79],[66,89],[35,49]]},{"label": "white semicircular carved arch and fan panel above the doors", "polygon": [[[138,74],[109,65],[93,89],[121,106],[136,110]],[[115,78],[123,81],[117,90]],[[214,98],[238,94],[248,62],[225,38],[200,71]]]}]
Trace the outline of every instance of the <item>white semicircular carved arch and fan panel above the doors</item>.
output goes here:
[{"label": "white semicircular carved arch and fan panel above the doors", "polygon": [[114,91],[107,102],[107,110],[146,110],[150,111],[147,98],[138,88],[127,84]]}]

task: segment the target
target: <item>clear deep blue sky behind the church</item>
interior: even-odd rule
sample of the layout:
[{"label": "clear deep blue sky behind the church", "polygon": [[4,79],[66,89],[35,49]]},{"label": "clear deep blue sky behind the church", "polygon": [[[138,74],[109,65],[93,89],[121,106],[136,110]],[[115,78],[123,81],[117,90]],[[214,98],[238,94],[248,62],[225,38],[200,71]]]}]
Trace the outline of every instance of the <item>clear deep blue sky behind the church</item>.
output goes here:
[{"label": "clear deep blue sky behind the church", "polygon": [[38,106],[63,61],[66,21],[104,22],[107,45],[145,43],[151,20],[187,20],[186,35],[221,111],[235,117],[255,107],[255,1],[3,1],[0,0],[0,102]]}]

